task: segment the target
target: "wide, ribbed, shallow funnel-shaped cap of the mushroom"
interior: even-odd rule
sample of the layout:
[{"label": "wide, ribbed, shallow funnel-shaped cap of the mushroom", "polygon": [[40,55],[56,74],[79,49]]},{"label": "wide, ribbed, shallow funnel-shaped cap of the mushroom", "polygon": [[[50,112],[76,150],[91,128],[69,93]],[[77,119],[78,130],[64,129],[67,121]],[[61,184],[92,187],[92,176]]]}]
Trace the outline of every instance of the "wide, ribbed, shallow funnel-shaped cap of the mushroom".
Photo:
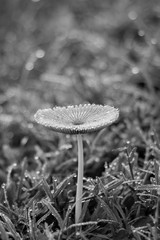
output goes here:
[{"label": "wide, ribbed, shallow funnel-shaped cap of the mushroom", "polygon": [[37,123],[66,134],[95,132],[117,120],[118,109],[108,105],[84,104],[40,109],[34,115]]}]

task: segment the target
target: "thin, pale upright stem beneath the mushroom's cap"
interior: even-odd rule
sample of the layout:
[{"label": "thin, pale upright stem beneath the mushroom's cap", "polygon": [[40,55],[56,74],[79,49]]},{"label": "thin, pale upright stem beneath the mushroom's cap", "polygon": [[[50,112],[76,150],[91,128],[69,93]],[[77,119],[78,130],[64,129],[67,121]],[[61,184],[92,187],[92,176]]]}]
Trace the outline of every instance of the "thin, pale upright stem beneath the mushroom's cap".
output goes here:
[{"label": "thin, pale upright stem beneath the mushroom's cap", "polygon": [[82,194],[83,194],[83,141],[81,134],[77,134],[78,141],[78,180],[77,180],[77,193],[76,193],[76,212],[75,222],[79,223],[79,218],[82,211]]}]

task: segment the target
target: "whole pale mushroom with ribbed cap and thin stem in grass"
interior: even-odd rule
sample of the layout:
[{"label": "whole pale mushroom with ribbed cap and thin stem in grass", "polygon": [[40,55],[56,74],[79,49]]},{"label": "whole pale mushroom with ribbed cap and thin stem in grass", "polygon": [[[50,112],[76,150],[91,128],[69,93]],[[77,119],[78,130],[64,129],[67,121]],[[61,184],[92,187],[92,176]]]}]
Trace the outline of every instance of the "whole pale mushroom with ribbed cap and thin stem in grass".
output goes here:
[{"label": "whole pale mushroom with ribbed cap and thin stem in grass", "polygon": [[53,109],[40,109],[34,115],[37,123],[51,127],[56,132],[76,134],[78,142],[78,179],[76,191],[75,222],[80,222],[83,194],[83,140],[82,134],[95,132],[113,123],[118,109],[108,105],[84,104]]}]

